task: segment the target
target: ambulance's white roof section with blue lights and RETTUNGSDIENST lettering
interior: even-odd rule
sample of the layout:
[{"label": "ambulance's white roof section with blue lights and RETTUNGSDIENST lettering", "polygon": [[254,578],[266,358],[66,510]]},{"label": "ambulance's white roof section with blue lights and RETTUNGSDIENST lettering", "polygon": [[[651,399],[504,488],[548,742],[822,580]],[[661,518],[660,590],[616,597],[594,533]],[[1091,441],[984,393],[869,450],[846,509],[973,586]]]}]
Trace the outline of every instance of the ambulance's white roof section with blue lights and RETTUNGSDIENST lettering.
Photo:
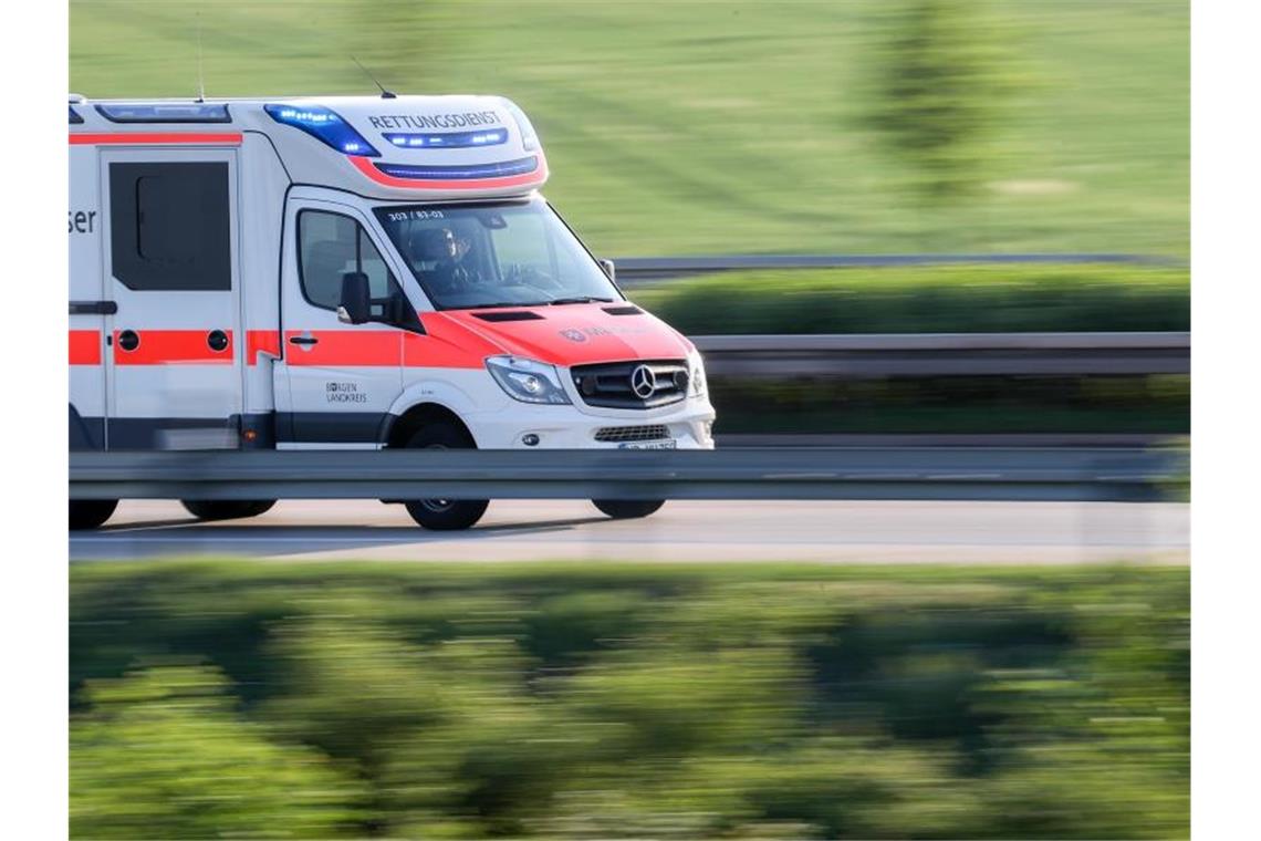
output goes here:
[{"label": "ambulance's white roof section with blue lights and RETTUNGSDIENST lettering", "polygon": [[237,144],[265,135],[299,184],[434,200],[520,195],[547,180],[528,117],[499,96],[250,100],[71,97],[71,142]]}]

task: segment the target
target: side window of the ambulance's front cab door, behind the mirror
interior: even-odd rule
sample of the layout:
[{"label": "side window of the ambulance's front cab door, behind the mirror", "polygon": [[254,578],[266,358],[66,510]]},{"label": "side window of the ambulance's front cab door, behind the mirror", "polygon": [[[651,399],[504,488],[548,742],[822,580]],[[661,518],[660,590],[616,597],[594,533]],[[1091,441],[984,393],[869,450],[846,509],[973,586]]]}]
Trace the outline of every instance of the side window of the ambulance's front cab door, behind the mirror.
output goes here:
[{"label": "side window of the ambulance's front cab door, behind the mirror", "polygon": [[303,296],[320,309],[342,303],[342,276],[363,272],[372,295],[372,318],[386,319],[391,301],[405,303],[402,289],[367,231],[348,216],[327,211],[298,214],[298,276]]}]

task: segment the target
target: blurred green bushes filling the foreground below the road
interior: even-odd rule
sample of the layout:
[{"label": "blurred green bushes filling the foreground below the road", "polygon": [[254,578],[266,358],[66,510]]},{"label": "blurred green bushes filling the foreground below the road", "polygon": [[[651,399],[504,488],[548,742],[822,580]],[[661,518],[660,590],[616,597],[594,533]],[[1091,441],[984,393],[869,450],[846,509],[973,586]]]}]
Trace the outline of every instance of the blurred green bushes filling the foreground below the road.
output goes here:
[{"label": "blurred green bushes filling the foreground below the road", "polygon": [[72,831],[1182,837],[1188,634],[1185,569],[79,565]]}]

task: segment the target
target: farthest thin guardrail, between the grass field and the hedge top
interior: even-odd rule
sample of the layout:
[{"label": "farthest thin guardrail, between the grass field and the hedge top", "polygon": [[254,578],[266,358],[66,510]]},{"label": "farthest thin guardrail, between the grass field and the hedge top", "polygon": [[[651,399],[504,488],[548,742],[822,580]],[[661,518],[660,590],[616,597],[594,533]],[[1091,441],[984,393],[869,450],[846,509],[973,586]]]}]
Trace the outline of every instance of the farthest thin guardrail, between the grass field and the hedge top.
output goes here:
[{"label": "farthest thin guardrail, between the grass field and the hedge top", "polygon": [[614,260],[618,282],[625,286],[752,269],[863,269],[881,266],[943,265],[1081,265],[1091,262],[1129,265],[1185,265],[1166,257],[1130,253],[912,253],[912,255],[711,255],[696,257],[620,257]]}]

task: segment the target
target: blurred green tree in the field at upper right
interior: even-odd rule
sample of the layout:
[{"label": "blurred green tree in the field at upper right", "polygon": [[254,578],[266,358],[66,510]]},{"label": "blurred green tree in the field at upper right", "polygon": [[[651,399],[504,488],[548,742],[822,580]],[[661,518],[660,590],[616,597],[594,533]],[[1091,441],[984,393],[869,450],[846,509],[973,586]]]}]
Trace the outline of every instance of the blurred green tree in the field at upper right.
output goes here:
[{"label": "blurred green tree in the field at upper right", "polygon": [[870,122],[929,203],[981,184],[1014,72],[982,0],[908,0],[876,53]]}]

